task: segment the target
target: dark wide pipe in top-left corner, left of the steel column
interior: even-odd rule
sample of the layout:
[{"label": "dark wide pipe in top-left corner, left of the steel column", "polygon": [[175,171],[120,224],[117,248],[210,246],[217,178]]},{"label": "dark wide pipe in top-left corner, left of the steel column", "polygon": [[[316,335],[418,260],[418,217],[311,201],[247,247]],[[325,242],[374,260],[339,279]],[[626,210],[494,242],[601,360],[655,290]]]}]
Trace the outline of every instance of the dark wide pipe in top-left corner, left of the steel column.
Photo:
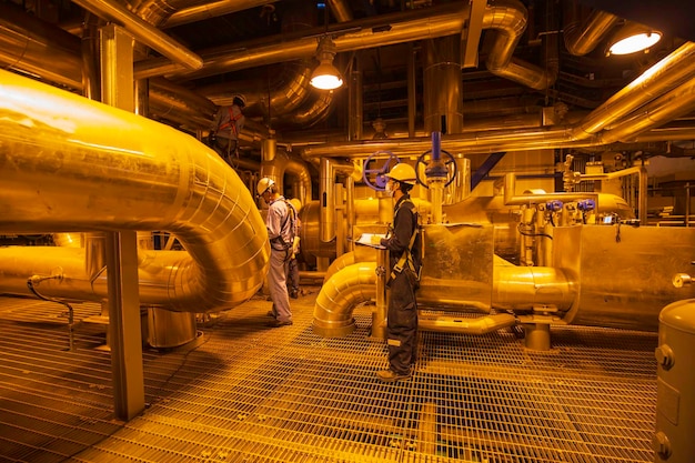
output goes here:
[{"label": "dark wide pipe in top-left corner, left of the steel column", "polygon": [[0,2],[0,62],[72,89],[82,89],[80,40]]}]

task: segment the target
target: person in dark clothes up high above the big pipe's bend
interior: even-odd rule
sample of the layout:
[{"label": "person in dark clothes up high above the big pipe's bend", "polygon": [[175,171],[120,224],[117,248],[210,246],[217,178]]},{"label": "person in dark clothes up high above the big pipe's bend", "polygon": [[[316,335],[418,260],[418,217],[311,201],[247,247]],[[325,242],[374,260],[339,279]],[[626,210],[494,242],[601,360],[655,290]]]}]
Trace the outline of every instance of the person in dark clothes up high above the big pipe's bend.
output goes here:
[{"label": "person in dark clothes up high above the big pipe's bend", "polygon": [[214,149],[230,165],[239,157],[239,134],[244,128],[246,118],[242,110],[246,105],[246,97],[234,94],[232,104],[220,107],[210,128],[210,147]]}]

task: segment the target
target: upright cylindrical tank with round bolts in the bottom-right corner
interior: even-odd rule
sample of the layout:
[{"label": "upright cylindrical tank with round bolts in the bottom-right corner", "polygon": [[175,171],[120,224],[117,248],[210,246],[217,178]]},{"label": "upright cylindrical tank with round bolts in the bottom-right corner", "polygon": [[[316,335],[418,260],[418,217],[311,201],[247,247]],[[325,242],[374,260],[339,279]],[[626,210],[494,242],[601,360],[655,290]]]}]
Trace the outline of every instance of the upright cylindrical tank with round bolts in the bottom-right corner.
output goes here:
[{"label": "upright cylindrical tank with round bolts in the bottom-right corner", "polygon": [[666,305],[658,322],[654,461],[689,463],[695,455],[695,299]]}]

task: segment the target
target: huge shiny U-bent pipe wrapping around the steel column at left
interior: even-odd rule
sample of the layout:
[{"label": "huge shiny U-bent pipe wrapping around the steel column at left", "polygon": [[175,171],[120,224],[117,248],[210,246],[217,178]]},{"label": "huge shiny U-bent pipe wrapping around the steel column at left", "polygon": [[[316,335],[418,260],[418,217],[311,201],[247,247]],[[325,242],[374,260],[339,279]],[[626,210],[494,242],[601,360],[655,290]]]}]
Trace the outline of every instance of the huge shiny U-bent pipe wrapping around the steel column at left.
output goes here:
[{"label": "huge shiny U-bent pipe wrapping around the steel column at left", "polygon": [[[1,231],[169,231],[188,252],[140,252],[140,301],[173,311],[229,309],[262,285],[263,220],[235,173],[192,137],[0,71],[0,141]],[[83,249],[0,251],[1,292],[59,272],[41,284],[47,295],[107,296],[103,275],[85,275]]]}]

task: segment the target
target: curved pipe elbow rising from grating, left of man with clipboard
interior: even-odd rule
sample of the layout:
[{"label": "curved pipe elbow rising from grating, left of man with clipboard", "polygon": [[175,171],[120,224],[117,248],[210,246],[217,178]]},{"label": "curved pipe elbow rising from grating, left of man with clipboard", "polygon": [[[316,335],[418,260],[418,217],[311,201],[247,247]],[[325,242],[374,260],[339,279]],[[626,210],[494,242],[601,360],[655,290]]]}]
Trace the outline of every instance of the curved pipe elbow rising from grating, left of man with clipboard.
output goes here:
[{"label": "curved pipe elbow rising from grating, left of man with clipboard", "polygon": [[376,299],[376,262],[348,265],[321,288],[314,305],[314,333],[340,338],[355,328],[355,305]]}]

